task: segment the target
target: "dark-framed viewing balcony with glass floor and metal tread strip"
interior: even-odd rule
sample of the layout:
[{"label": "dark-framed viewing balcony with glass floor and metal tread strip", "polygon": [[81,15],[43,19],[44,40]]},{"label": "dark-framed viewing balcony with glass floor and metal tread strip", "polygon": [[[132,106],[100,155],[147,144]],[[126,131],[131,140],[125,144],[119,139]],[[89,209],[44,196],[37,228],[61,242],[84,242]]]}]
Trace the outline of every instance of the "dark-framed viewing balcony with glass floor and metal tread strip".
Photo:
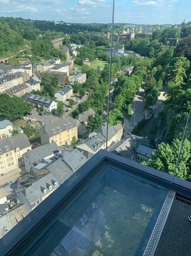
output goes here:
[{"label": "dark-framed viewing balcony with glass floor and metal tread strip", "polygon": [[190,199],[189,182],[100,150],[0,239],[1,255],[190,255]]}]

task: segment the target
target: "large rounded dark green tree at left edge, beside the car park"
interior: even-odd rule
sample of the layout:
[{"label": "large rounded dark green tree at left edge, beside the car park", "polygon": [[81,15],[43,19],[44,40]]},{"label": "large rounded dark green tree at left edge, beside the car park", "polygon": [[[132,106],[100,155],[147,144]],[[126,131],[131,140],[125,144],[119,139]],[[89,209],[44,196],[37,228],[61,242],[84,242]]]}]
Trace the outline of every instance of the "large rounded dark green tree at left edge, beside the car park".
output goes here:
[{"label": "large rounded dark green tree at left edge, beside the car park", "polygon": [[25,102],[22,97],[8,94],[0,94],[0,114],[8,120],[15,120],[24,116],[24,113],[30,112],[31,106]]}]

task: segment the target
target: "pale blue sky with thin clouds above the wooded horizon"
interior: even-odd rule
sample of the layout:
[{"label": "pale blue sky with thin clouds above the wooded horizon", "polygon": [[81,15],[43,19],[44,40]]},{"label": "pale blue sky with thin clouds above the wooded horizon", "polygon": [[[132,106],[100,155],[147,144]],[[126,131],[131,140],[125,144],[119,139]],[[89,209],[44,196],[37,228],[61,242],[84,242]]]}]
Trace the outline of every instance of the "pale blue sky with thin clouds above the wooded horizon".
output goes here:
[{"label": "pale blue sky with thin clouds above the wooded horizon", "polygon": [[[0,0],[0,16],[108,23],[112,0]],[[115,0],[115,23],[165,24],[191,20],[191,0]]]}]

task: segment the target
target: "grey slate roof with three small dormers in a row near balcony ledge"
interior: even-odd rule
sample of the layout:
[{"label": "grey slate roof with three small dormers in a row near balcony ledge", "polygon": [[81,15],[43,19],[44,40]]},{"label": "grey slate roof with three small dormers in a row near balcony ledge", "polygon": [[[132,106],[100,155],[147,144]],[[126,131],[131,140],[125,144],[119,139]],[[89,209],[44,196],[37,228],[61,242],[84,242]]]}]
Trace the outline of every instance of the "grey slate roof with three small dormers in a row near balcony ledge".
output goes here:
[{"label": "grey slate roof with three small dormers in a row near balcony ledge", "polygon": [[[56,187],[54,187],[54,185],[52,184],[52,181],[57,182]],[[39,198],[44,197],[44,195],[49,195],[49,193],[52,192],[52,190],[49,190],[49,188],[47,188],[46,183],[49,183],[50,185],[52,185],[52,190],[54,190],[55,188],[57,188],[59,186],[56,178],[53,177],[52,173],[49,173],[45,177],[40,178],[39,180],[34,182],[30,187],[24,188],[23,190],[21,190],[20,192],[17,192],[17,193],[22,193],[27,198],[29,203],[32,205]],[[46,189],[47,193],[44,194],[41,191],[40,187],[44,187]]]}]

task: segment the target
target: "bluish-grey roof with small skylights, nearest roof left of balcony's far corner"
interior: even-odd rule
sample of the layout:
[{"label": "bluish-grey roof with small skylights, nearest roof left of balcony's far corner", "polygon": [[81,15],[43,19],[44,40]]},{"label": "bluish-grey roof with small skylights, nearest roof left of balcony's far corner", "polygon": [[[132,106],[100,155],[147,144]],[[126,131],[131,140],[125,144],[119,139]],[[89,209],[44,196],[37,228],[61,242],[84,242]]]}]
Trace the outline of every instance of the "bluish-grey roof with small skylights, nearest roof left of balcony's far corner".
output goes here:
[{"label": "bluish-grey roof with small skylights, nearest roof left of balcony's far corner", "polygon": [[87,158],[79,152],[78,149],[70,149],[60,154],[61,159],[76,172],[85,162]]}]

